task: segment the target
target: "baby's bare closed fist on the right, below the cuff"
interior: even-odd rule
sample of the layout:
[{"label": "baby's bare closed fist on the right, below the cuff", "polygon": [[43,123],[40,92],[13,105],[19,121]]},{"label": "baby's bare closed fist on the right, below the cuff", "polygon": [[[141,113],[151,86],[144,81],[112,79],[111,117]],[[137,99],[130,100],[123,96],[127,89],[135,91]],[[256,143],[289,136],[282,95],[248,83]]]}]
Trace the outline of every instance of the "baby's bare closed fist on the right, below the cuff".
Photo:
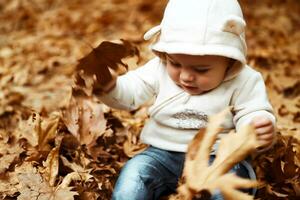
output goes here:
[{"label": "baby's bare closed fist on the right, below the cuff", "polygon": [[255,117],[251,123],[254,126],[259,148],[270,146],[275,139],[275,127],[267,117]]}]

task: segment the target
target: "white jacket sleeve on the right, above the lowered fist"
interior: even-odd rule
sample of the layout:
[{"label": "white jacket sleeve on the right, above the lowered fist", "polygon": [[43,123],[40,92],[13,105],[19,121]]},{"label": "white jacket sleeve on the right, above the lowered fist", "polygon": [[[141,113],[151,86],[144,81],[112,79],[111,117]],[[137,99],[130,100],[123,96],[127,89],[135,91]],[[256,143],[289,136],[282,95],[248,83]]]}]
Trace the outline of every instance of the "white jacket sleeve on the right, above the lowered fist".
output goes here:
[{"label": "white jacket sleeve on the right, above the lowered fist", "polygon": [[275,125],[273,108],[268,100],[264,80],[259,72],[251,73],[233,96],[233,122],[237,130],[254,117],[265,116]]}]

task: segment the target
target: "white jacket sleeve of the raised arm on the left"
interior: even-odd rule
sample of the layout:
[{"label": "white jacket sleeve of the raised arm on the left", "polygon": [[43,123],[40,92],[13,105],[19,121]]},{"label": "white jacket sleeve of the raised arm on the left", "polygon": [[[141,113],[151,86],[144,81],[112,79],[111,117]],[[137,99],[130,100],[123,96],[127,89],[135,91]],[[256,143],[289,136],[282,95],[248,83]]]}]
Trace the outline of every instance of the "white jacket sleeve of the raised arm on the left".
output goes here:
[{"label": "white jacket sleeve of the raised arm on the left", "polygon": [[134,110],[156,96],[159,90],[161,68],[159,58],[154,58],[133,71],[119,76],[115,88],[100,96],[106,105],[125,110]]}]

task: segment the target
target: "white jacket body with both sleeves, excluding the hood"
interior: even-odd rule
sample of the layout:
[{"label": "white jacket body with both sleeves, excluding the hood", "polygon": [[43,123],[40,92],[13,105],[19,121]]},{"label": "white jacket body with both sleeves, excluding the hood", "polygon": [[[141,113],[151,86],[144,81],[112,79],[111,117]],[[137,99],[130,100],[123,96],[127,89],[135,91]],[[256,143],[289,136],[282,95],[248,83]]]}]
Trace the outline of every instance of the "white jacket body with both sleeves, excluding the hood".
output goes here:
[{"label": "white jacket body with both sleeves, excluding the hood", "polygon": [[[223,124],[224,134],[248,124],[256,116],[275,123],[262,76],[249,66],[235,78],[201,95],[190,95],[169,77],[163,62],[154,58],[144,66],[118,77],[116,87],[101,100],[114,108],[133,110],[154,98],[150,118],[141,133],[144,143],[171,151],[186,152],[208,116],[233,106]],[[221,134],[222,135],[222,134]]]}]

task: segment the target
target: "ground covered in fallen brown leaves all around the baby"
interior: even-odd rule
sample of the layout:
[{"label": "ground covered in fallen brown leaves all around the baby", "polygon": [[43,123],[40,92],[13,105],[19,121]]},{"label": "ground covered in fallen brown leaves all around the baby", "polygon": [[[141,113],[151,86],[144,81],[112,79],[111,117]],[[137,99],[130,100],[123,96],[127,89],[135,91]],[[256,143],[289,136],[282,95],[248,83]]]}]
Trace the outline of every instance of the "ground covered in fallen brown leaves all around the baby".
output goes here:
[{"label": "ground covered in fallen brown leaves all around the baby", "polygon": [[[263,73],[278,118],[278,143],[255,159],[265,181],[257,198],[298,199],[300,2],[240,2],[248,24],[248,61]],[[153,55],[142,35],[159,23],[165,4],[0,0],[1,198],[110,198],[122,165],[144,148],[138,138],[147,108],[124,112],[97,99],[70,102],[71,76],[76,61],[104,40],[130,40],[141,56],[127,63],[130,68],[143,64]],[[89,113],[93,109],[97,115]],[[67,116],[97,131],[71,134],[78,127],[70,127]]]}]

